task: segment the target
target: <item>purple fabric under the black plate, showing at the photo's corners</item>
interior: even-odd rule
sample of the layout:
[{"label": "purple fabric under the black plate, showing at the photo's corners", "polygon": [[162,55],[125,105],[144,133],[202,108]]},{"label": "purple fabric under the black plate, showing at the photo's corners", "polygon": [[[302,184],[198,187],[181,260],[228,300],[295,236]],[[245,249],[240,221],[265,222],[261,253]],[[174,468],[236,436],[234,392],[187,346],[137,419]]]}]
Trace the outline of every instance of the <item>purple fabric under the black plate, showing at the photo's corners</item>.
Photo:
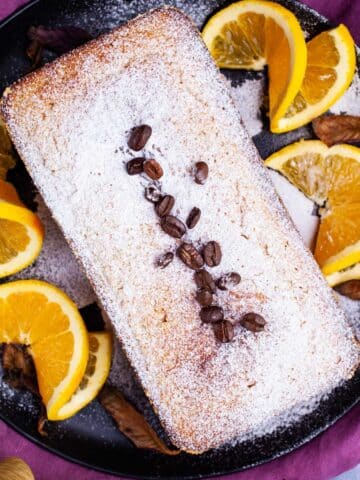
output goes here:
[{"label": "purple fabric under the black plate, showing at the photo's corners", "polygon": [[[26,0],[0,0],[0,19]],[[360,0],[305,0],[335,23],[343,22],[360,42]],[[56,457],[37,447],[0,422],[0,459],[19,456],[32,468],[36,480],[111,480],[119,477],[97,473]],[[268,464],[227,480],[328,480],[360,462],[360,405],[322,435],[302,448]],[[224,478],[224,477],[222,477]]]}]

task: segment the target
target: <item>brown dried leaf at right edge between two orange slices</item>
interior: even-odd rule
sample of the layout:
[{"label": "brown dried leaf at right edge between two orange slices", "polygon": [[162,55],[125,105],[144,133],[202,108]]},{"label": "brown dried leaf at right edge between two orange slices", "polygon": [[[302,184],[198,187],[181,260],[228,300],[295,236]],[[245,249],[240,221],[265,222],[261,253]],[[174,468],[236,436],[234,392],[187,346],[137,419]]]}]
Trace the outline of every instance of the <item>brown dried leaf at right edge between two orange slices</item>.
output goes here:
[{"label": "brown dried leaf at right edge between two orange slices", "polygon": [[336,143],[360,142],[360,117],[326,115],[313,122],[315,134],[329,147]]}]

